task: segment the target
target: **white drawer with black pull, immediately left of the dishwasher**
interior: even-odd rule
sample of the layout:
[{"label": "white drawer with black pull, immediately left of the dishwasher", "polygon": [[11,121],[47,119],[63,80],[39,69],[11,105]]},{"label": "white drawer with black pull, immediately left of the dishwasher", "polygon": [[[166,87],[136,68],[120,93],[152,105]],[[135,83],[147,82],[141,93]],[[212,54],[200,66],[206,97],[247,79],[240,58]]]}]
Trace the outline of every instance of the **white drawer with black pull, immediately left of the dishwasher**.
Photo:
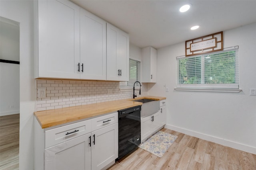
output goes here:
[{"label": "white drawer with black pull, immediately left of the dishwasher", "polygon": [[118,122],[118,113],[112,113],[92,119],[92,131]]}]

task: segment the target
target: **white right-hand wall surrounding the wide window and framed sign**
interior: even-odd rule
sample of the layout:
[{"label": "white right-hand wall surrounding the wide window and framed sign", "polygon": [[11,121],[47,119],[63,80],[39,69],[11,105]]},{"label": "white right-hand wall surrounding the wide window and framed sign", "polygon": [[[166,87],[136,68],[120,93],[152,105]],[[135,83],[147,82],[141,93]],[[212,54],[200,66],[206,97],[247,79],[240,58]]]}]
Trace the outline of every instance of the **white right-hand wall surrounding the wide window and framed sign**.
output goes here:
[{"label": "white right-hand wall surrounding the wide window and framed sign", "polygon": [[[158,49],[157,83],[148,94],[166,96],[166,127],[256,154],[256,23],[224,31],[224,48],[239,45],[240,93],[178,92],[176,56],[185,42]],[[164,84],[169,88],[165,92]]]}]

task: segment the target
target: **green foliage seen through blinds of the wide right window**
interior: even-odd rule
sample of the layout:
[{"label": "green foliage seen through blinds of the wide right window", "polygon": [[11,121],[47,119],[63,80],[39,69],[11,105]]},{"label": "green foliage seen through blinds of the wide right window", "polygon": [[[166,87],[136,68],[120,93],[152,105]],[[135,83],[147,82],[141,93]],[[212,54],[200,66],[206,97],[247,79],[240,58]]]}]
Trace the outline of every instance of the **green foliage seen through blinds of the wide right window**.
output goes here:
[{"label": "green foliage seen through blinds of the wide right window", "polygon": [[178,84],[236,83],[236,51],[226,51],[178,61]]}]

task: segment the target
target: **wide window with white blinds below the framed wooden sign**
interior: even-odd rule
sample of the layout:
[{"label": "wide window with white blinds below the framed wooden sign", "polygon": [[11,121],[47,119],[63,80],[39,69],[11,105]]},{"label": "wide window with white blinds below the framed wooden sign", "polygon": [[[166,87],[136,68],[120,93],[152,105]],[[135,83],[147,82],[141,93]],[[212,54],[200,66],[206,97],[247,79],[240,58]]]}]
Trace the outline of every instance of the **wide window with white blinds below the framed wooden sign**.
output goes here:
[{"label": "wide window with white blinds below the framed wooden sign", "polygon": [[177,88],[238,89],[238,46],[215,53],[177,57]]}]

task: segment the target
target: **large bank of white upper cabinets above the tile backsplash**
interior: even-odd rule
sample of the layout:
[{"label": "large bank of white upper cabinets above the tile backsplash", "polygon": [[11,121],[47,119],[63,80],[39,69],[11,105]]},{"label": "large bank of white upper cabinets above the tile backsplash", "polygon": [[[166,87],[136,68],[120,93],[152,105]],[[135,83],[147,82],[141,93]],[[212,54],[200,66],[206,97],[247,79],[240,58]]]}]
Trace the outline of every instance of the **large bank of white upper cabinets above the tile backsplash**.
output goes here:
[{"label": "large bank of white upper cabinets above the tile backsplash", "polygon": [[35,78],[129,81],[127,33],[68,0],[34,3]]}]

